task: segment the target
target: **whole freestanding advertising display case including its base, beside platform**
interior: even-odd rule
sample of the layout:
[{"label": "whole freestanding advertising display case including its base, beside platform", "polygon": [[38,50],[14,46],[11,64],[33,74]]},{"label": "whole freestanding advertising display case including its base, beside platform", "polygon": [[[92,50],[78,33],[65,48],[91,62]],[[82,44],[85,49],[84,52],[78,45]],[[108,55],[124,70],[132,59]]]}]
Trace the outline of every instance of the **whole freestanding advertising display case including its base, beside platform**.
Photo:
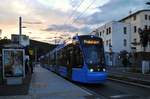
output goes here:
[{"label": "whole freestanding advertising display case including its base, beside platform", "polygon": [[7,85],[18,85],[25,78],[25,51],[18,44],[5,45],[2,49],[3,79]]}]

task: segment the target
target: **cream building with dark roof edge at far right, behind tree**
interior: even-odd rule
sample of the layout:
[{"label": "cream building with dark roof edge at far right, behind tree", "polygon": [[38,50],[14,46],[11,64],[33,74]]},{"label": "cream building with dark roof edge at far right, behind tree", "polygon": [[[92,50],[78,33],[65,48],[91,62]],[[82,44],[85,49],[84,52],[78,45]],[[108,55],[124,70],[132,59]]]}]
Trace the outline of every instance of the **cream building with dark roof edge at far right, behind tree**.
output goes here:
[{"label": "cream building with dark roof edge at far right, behind tree", "polygon": [[[150,9],[139,10],[123,19],[119,22],[131,24],[131,43],[139,43],[139,33],[138,30],[140,29],[149,29],[150,28]],[[132,47],[136,48],[136,52],[143,51],[141,45],[132,45]],[[150,45],[146,48],[147,52],[150,52]]]}]

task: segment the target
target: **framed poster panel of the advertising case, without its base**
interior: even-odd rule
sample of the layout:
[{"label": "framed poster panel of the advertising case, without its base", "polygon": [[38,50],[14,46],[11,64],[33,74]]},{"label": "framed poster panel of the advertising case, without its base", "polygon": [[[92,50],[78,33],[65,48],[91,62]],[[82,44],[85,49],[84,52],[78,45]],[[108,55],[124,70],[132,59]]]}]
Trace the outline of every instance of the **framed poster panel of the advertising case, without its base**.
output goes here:
[{"label": "framed poster panel of the advertising case, without its base", "polygon": [[3,49],[3,77],[25,77],[23,49]]}]

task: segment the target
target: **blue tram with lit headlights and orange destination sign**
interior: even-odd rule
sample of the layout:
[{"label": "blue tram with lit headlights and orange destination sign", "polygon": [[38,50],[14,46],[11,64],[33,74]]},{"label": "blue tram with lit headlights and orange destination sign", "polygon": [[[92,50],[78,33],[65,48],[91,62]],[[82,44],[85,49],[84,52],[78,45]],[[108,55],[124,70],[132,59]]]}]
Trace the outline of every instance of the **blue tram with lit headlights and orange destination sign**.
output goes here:
[{"label": "blue tram with lit headlights and orange destination sign", "polygon": [[77,82],[104,83],[107,79],[104,46],[93,35],[75,36],[71,43],[49,53],[50,70]]}]

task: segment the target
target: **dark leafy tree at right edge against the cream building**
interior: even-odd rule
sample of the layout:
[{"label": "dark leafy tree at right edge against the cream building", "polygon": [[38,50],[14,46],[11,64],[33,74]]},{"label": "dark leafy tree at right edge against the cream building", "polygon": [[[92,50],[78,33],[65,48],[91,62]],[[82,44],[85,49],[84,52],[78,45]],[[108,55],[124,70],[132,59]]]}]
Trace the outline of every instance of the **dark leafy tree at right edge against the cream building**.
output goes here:
[{"label": "dark leafy tree at right edge against the cream building", "polygon": [[140,37],[140,44],[144,48],[143,51],[145,52],[148,42],[150,42],[150,29],[139,29],[138,32]]}]

